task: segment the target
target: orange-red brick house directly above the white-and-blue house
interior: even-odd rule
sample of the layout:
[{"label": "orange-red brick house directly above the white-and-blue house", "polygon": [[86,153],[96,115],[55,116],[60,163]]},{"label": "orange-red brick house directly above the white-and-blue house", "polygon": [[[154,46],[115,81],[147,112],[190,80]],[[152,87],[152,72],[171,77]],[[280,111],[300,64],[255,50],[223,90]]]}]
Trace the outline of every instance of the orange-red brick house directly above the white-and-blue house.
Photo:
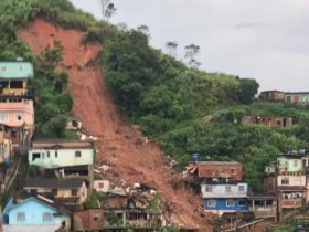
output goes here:
[{"label": "orange-red brick house directly above the white-and-blue house", "polygon": [[199,161],[191,164],[187,169],[200,179],[224,178],[241,181],[243,178],[243,165],[236,161]]}]

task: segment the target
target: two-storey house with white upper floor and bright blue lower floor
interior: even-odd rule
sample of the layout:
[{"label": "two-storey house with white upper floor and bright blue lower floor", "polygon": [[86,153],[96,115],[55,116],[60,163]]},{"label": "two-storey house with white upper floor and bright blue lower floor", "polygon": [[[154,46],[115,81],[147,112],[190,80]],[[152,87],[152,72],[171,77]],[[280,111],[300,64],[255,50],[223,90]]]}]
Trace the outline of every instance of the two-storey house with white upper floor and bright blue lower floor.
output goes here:
[{"label": "two-storey house with white upper floor and bright blue lower floor", "polygon": [[244,182],[202,183],[205,211],[222,215],[224,212],[247,211],[248,184]]}]

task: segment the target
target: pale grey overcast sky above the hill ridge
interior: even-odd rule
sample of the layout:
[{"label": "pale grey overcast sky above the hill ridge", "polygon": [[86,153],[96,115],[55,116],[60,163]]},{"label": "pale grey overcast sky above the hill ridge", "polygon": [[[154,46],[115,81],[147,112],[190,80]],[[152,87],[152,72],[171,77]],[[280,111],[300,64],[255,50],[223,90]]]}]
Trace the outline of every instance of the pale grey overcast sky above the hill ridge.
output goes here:
[{"label": "pale grey overcast sky above the hill ridge", "polygon": [[[98,0],[71,0],[100,17]],[[111,22],[146,24],[151,45],[201,46],[207,72],[254,77],[260,89],[309,91],[309,0],[113,0]]]}]

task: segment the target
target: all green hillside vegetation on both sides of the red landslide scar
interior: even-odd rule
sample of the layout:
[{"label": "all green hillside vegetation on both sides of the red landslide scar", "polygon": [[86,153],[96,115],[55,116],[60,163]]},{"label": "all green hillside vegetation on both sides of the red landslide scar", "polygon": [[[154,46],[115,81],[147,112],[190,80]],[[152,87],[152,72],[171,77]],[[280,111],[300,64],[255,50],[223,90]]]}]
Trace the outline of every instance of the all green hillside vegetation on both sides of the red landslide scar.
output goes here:
[{"label": "all green hillside vegetation on both sides of the red landslide scar", "polygon": [[[119,108],[174,159],[185,164],[199,151],[203,160],[238,160],[245,180],[260,191],[264,166],[287,149],[307,148],[309,110],[283,104],[255,103],[258,84],[238,76],[206,73],[149,45],[145,30],[117,29],[76,10],[67,0],[3,0],[0,3],[0,59],[33,61],[36,77],[36,135],[70,136],[64,129],[72,98],[65,93],[67,74],[55,74],[61,44],[35,56],[15,35],[19,27],[44,17],[85,32],[84,42],[99,42],[107,82]],[[222,110],[224,109],[224,110]],[[288,129],[246,126],[246,114],[292,116]],[[205,117],[206,116],[206,117]]]}]

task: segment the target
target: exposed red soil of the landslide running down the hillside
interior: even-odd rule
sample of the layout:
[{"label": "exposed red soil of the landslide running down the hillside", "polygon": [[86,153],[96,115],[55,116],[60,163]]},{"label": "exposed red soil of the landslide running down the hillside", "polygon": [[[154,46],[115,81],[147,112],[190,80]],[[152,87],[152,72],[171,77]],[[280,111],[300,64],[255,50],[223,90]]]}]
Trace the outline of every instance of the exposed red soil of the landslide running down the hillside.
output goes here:
[{"label": "exposed red soil of the landslide running down the hillside", "polygon": [[127,183],[140,182],[159,191],[169,205],[171,222],[189,229],[212,231],[202,217],[201,199],[188,190],[174,190],[175,173],[154,143],[146,143],[140,131],[127,125],[117,114],[99,66],[86,66],[100,51],[100,45],[82,45],[83,33],[64,30],[36,19],[19,31],[19,36],[35,52],[41,53],[54,40],[64,48],[63,63],[70,67],[68,91],[74,98],[73,114],[79,117],[86,130],[98,138],[96,162],[107,161]]}]

